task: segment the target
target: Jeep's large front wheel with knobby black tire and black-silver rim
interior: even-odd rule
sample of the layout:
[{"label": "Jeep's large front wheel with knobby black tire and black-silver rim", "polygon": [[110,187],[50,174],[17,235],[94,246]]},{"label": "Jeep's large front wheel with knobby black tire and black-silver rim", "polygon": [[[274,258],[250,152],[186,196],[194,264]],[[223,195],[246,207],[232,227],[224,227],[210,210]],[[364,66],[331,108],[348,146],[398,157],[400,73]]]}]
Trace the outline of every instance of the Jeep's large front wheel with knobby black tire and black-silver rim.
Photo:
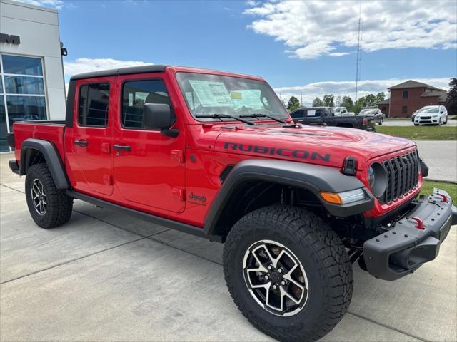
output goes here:
[{"label": "Jeep's large front wheel with knobby black tire and black-silver rim", "polygon": [[304,209],[271,206],[242,217],[224,246],[233,301],[279,341],[316,341],[343,318],[353,291],[341,239]]}]

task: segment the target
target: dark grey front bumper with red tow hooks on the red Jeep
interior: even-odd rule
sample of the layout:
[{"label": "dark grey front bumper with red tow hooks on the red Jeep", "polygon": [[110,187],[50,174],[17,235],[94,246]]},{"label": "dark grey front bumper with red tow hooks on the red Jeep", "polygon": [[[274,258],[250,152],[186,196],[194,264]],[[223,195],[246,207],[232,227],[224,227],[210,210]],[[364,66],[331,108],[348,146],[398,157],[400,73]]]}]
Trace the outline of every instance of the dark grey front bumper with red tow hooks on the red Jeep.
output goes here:
[{"label": "dark grey front bumper with red tow hooks on the red Jeep", "polygon": [[453,224],[457,224],[457,209],[446,191],[435,189],[433,195],[421,196],[390,230],[363,244],[367,271],[384,280],[413,273],[436,258]]}]

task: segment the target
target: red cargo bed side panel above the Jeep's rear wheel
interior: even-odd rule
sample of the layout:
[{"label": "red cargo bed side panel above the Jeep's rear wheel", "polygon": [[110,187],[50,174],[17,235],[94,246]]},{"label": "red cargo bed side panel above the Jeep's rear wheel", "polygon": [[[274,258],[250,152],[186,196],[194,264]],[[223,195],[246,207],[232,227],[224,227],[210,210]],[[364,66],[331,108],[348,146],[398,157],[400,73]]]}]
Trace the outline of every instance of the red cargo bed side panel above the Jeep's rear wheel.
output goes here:
[{"label": "red cargo bed side panel above the Jeep's rear wheel", "polygon": [[22,142],[29,138],[35,138],[52,142],[59,151],[61,160],[64,161],[64,130],[65,125],[63,123],[34,123],[33,121],[14,123],[13,132],[16,143],[14,156],[16,160],[21,160]]}]

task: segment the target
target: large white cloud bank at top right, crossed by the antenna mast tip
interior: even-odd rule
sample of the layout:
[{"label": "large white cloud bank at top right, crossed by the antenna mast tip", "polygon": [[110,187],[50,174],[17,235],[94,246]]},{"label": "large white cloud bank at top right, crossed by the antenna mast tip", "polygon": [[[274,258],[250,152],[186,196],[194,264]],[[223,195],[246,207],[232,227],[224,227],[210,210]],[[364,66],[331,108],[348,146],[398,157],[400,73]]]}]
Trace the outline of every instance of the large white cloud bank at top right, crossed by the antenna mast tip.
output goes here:
[{"label": "large white cloud bank at top right, crossed by the antenna mast tip", "polygon": [[[385,48],[456,48],[457,1],[278,1],[253,2],[256,33],[283,41],[302,59],[343,56],[357,46],[361,9],[363,51]],[[347,53],[345,53],[347,54]]]}]

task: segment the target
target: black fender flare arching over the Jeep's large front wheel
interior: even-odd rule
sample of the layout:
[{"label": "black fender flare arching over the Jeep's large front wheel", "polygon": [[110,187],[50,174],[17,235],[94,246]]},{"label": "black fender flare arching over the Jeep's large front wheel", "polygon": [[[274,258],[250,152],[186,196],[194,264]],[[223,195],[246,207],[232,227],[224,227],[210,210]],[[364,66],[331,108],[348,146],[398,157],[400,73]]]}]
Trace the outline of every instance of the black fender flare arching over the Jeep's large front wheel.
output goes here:
[{"label": "black fender flare arching over the Jeep's large front wheel", "polygon": [[[374,197],[365,185],[356,177],[343,175],[336,167],[284,160],[243,160],[233,167],[217,192],[204,220],[206,234],[216,232],[219,218],[231,195],[237,185],[247,180],[263,180],[309,190],[321,200],[331,215],[338,217],[361,214],[374,205]],[[366,198],[349,204],[330,204],[319,195],[321,191],[345,192],[356,189],[362,189]]]}]

